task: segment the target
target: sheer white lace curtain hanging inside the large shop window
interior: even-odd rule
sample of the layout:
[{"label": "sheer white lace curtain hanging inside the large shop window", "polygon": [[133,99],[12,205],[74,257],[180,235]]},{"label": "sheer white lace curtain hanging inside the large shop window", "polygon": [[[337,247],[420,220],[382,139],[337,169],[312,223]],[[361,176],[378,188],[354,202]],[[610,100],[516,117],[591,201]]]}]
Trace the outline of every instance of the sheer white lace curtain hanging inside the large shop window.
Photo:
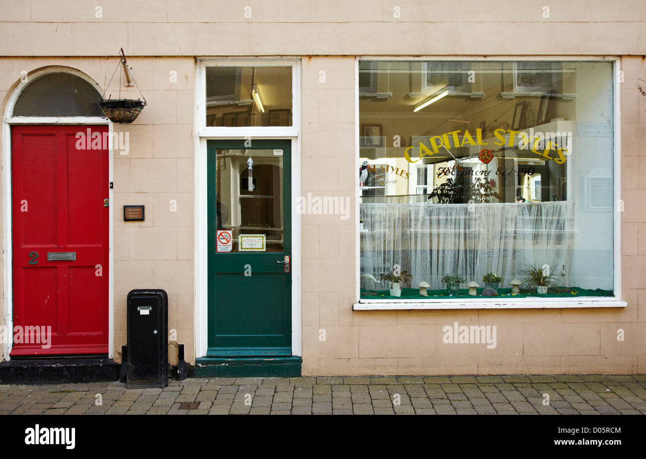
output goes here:
[{"label": "sheer white lace curtain hanging inside the large shop window", "polygon": [[[442,289],[445,274],[459,274],[482,287],[494,272],[502,287],[519,278],[527,263],[550,265],[557,283],[572,254],[574,203],[433,204],[426,195],[362,197],[361,273],[379,274],[401,265],[411,285],[426,281]],[[364,289],[387,289],[361,278]],[[464,288],[464,286],[463,286]]]}]

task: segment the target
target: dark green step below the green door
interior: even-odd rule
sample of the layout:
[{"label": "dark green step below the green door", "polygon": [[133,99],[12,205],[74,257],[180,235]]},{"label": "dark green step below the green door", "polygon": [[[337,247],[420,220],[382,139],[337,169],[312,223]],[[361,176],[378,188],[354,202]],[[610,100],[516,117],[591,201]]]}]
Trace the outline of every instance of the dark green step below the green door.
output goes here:
[{"label": "dark green step below the green door", "polygon": [[289,357],[200,357],[196,378],[298,378],[303,359]]}]

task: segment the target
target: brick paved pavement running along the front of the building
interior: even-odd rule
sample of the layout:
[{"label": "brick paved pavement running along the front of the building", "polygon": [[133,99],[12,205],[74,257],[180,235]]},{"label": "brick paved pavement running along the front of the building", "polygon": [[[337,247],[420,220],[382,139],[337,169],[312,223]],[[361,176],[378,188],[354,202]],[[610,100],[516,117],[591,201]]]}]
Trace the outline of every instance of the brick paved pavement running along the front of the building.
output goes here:
[{"label": "brick paved pavement running along the front of the building", "polygon": [[646,414],[646,376],[191,378],[163,390],[0,385],[0,414]]}]

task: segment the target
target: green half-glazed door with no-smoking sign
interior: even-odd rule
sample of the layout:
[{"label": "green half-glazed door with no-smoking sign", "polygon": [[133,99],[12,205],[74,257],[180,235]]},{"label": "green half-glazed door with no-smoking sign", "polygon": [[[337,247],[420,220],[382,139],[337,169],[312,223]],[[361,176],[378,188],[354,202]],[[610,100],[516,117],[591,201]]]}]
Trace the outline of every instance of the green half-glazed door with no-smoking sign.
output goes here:
[{"label": "green half-glazed door with no-smoking sign", "polygon": [[207,356],[291,356],[291,141],[244,144],[207,144]]}]

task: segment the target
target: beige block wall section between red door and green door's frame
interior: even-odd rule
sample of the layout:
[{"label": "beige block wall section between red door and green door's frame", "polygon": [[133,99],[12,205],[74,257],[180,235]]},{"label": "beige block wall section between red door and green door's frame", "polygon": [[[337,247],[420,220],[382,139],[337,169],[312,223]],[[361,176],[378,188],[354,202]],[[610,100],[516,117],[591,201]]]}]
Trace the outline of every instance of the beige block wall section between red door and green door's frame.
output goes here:
[{"label": "beige block wall section between red door and green door's frame", "polygon": [[[35,11],[47,9],[47,5],[36,0],[32,3]],[[61,14],[76,14],[75,8]],[[0,59],[1,108],[4,110],[6,94],[19,81],[22,70],[69,66],[105,87],[117,62],[115,57]],[[184,343],[187,361],[194,362],[195,61],[192,57],[131,57],[128,62],[148,105],[131,125],[114,125],[115,132],[129,135],[128,154],[121,155],[115,150],[112,162],[115,359],[120,361],[121,345],[126,342],[128,292],[154,288],[168,292],[169,329],[177,331],[177,342],[169,344],[169,360],[177,362],[176,344]],[[177,74],[176,83],[171,82],[171,71]],[[115,76],[107,94],[117,97],[118,92]],[[136,89],[125,87],[121,88],[121,96],[141,97]],[[123,221],[123,205],[127,204],[145,205],[145,221]]]}]

